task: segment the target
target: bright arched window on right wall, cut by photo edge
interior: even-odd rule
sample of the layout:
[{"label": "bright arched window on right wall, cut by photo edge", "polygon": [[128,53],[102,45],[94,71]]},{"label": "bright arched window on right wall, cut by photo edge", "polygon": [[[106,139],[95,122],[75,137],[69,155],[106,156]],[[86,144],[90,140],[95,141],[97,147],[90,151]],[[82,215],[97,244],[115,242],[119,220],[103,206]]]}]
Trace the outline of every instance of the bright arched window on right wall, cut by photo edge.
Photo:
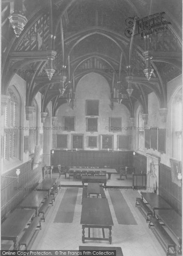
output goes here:
[{"label": "bright arched window on right wall, cut by photo edge", "polygon": [[172,157],[182,160],[182,90],[174,97],[172,104]]}]

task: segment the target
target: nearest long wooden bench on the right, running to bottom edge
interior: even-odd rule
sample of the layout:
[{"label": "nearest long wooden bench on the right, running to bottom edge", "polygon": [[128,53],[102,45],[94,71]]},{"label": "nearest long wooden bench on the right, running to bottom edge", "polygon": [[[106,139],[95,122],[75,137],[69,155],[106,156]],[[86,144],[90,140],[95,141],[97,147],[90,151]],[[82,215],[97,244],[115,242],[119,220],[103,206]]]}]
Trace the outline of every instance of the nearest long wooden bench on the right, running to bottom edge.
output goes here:
[{"label": "nearest long wooden bench on the right, running to bottom edge", "polygon": [[[171,239],[171,237],[168,235],[166,230],[162,227],[162,225],[159,223],[157,218],[154,216],[149,216],[149,225],[148,227],[151,228],[153,231],[154,235],[157,237],[158,241],[162,245],[163,249],[166,251],[167,256],[176,256],[176,249],[175,246],[176,244],[174,241]],[[152,223],[152,224],[151,224]],[[170,249],[172,252],[170,252]]]}]

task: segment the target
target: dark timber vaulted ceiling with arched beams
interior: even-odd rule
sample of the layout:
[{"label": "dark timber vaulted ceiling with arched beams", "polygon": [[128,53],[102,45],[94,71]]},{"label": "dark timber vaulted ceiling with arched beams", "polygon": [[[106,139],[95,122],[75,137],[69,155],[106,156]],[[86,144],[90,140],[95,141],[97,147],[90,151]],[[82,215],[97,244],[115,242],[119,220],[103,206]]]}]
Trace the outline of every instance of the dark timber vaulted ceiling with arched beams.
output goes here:
[{"label": "dark timber vaulted ceiling with arched beams", "polygon": [[[181,0],[176,4],[174,0],[23,0],[28,22],[19,38],[9,23],[13,9],[13,0],[2,0],[2,94],[17,73],[27,81],[26,105],[31,106],[40,91],[41,111],[45,112],[52,101],[54,116],[69,93],[73,101],[79,79],[96,72],[110,85],[111,104],[115,102],[113,88],[117,81],[122,82],[124,90],[129,84],[134,89],[122,102],[131,116],[137,100],[148,113],[147,95],[152,91],[160,108],[166,108],[166,83],[182,70]],[[159,24],[161,30],[155,31],[154,26],[145,40],[141,23],[134,29],[139,33],[130,36],[134,16],[142,19],[161,12],[166,20]],[[55,73],[49,81],[45,70],[50,56]],[[143,70],[149,56],[154,73],[148,81]],[[59,93],[61,86],[66,89],[63,96]]]}]

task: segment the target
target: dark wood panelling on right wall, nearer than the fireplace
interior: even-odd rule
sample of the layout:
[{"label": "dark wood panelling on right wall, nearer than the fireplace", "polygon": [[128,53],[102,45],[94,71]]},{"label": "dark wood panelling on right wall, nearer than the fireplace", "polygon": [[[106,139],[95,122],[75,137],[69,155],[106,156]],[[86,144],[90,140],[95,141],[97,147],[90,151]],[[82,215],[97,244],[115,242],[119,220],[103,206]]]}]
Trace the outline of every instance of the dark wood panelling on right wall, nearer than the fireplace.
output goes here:
[{"label": "dark wood panelling on right wall, nearer than the fireplace", "polygon": [[160,164],[160,195],[182,215],[182,188],[171,179],[171,168]]}]

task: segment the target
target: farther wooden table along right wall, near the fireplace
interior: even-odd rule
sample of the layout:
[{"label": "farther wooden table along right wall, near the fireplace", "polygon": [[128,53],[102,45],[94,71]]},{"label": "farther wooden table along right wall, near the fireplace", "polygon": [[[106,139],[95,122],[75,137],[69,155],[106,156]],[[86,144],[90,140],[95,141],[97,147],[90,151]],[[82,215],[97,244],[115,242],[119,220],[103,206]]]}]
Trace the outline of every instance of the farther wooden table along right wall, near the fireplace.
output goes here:
[{"label": "farther wooden table along right wall, near the fireplace", "polygon": [[172,209],[172,207],[163,198],[161,198],[160,195],[157,195],[156,193],[141,192],[141,195],[142,200],[145,198],[145,200],[153,209],[154,215],[155,210],[157,209]]}]

